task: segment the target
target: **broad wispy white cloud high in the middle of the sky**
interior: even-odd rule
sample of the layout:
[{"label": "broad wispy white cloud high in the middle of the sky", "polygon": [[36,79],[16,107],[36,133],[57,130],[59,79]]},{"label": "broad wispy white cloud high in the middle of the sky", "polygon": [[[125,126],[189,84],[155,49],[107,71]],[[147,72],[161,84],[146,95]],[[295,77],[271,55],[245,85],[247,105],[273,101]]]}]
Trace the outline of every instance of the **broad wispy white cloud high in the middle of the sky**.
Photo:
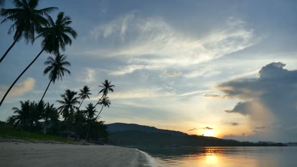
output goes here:
[{"label": "broad wispy white cloud high in the middle of the sky", "polygon": [[[125,75],[135,70],[166,70],[168,67],[187,67],[204,63],[245,49],[258,42],[254,30],[246,23],[228,18],[220,29],[204,37],[176,30],[161,17],[140,17],[133,11],[90,32],[90,38],[105,41],[110,48],[86,51],[85,54],[116,57],[127,63],[110,74]],[[109,44],[108,44],[109,43]],[[104,51],[102,51],[104,50]],[[211,75],[218,74],[215,71]],[[173,74],[180,75],[179,72]],[[195,77],[197,74],[188,74]]]}]

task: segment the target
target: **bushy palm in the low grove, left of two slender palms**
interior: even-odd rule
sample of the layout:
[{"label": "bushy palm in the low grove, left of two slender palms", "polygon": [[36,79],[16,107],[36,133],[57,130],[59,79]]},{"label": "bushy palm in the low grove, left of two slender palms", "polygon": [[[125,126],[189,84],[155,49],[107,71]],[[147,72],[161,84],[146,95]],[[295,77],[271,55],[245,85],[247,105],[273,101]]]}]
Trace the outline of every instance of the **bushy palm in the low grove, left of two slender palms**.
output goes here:
[{"label": "bushy palm in the low grove, left of two slender palms", "polygon": [[64,94],[61,94],[63,100],[57,100],[56,102],[62,104],[58,107],[60,114],[62,114],[64,121],[70,120],[72,116],[74,116],[75,109],[78,109],[76,104],[80,104],[78,101],[79,97],[75,97],[77,92],[71,91],[69,89],[65,90]]}]

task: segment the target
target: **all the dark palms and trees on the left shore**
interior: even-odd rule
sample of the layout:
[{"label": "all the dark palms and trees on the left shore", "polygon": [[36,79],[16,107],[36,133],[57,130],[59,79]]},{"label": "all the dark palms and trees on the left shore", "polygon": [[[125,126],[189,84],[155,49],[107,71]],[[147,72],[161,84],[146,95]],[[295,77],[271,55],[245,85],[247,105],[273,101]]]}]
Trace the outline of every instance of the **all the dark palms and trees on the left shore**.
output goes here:
[{"label": "all the dark palms and trees on the left shore", "polygon": [[[4,2],[5,0],[0,0],[0,6],[3,6]],[[50,84],[55,84],[59,80],[62,81],[64,73],[70,75],[70,71],[66,69],[66,66],[70,66],[71,63],[66,61],[67,56],[60,51],[64,52],[66,45],[71,45],[72,39],[76,39],[77,37],[77,32],[70,26],[72,23],[71,18],[66,16],[64,12],[59,12],[56,20],[54,20],[49,14],[57,11],[59,8],[46,7],[38,9],[39,0],[11,0],[11,2],[15,8],[1,8],[0,10],[0,16],[4,17],[1,24],[7,21],[13,22],[8,29],[8,34],[13,35],[13,42],[1,56],[0,65],[15,44],[21,40],[33,45],[37,39],[40,39],[41,50],[10,85],[0,101],[0,107],[13,86],[43,52],[54,54],[54,57],[48,56],[47,61],[44,62],[44,65],[47,66],[43,74],[48,74],[49,83],[41,100],[39,102],[32,102],[30,100],[21,101],[19,108],[12,108],[17,115],[8,117],[6,121],[16,127],[32,131],[38,131],[50,125],[50,132],[66,129],[67,131],[75,131],[77,134],[85,136],[85,139],[89,137],[89,134],[94,134],[90,132],[94,132],[96,129],[97,132],[99,130],[101,133],[107,135],[104,122],[97,121],[97,118],[103,108],[106,106],[109,107],[111,104],[107,94],[108,92],[113,92],[112,87],[114,85],[108,80],[105,80],[100,85],[102,89],[98,94],[102,93],[102,96],[98,102],[96,104],[87,104],[85,109],[81,109],[81,106],[84,100],[89,99],[89,95],[91,95],[87,85],[79,90],[79,94],[76,91],[66,89],[64,94],[60,95],[61,100],[56,101],[61,104],[59,107],[43,101]],[[96,109],[98,104],[102,105],[100,111]],[[64,119],[62,122],[59,121],[60,115]],[[44,121],[43,125],[41,125],[41,120]]]}]

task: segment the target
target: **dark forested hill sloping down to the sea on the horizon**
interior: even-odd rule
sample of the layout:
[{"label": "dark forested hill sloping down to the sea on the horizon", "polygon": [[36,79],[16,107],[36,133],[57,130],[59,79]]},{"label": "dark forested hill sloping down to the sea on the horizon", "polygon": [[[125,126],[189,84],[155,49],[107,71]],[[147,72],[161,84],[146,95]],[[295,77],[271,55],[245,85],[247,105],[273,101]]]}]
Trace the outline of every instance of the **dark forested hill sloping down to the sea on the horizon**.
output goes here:
[{"label": "dark forested hill sloping down to the sea on the horizon", "polygon": [[152,126],[114,123],[107,125],[109,144],[133,146],[286,146],[281,143],[252,143],[158,129]]}]

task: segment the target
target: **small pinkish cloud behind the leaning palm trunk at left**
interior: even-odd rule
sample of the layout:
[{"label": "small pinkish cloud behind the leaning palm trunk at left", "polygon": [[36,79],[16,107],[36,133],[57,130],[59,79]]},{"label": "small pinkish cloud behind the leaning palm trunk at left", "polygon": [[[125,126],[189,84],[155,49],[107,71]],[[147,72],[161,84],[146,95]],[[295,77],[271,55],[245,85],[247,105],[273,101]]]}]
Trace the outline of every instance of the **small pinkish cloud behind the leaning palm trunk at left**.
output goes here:
[{"label": "small pinkish cloud behind the leaning palm trunk at left", "polygon": [[[33,90],[35,86],[35,80],[33,78],[27,78],[20,84],[15,85],[7,97],[15,97],[15,96],[21,96],[24,93]],[[0,86],[0,95],[4,95],[5,91],[8,89],[8,86]]]}]

